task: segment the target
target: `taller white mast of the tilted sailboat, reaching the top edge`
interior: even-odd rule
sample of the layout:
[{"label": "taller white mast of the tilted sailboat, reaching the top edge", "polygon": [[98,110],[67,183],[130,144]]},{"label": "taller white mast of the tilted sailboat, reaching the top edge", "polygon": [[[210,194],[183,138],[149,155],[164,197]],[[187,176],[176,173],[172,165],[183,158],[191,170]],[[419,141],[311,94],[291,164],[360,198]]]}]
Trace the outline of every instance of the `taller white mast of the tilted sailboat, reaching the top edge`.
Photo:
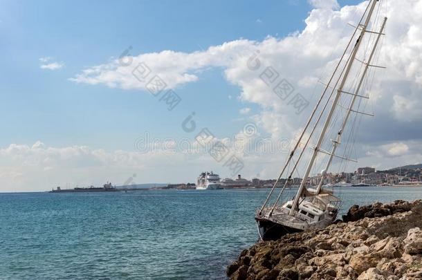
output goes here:
[{"label": "taller white mast of the tilted sailboat, reaching the top edge", "polygon": [[340,86],[337,90],[336,97],[334,97],[333,104],[331,105],[331,109],[329,111],[329,114],[327,115],[327,120],[325,120],[324,127],[322,127],[322,131],[320,133],[320,137],[318,138],[317,144],[315,145],[315,148],[313,149],[311,160],[309,160],[308,167],[306,167],[306,171],[305,171],[304,177],[302,179],[302,182],[300,183],[300,187],[297,190],[295,200],[293,200],[293,205],[292,205],[290,213],[289,213],[291,216],[293,216],[295,214],[295,209],[297,207],[297,203],[299,202],[300,196],[302,196],[302,193],[303,193],[304,188],[305,188],[306,181],[308,180],[309,174],[311,173],[313,163],[315,162],[315,158],[318,156],[318,152],[320,151],[322,141],[324,140],[324,137],[325,137],[325,133],[327,133],[327,129],[329,127],[331,119],[333,118],[333,113],[336,110],[338,100],[340,99],[343,88],[344,88],[344,86],[347,82],[347,78],[349,77],[349,73],[351,71],[351,66],[353,66],[353,64],[354,64],[354,60],[356,58],[356,54],[358,53],[360,43],[363,41],[363,37],[365,36],[366,28],[369,24],[372,13],[374,12],[377,1],[378,0],[371,0],[371,3],[369,3],[371,8],[369,8],[368,15],[367,15],[367,18],[365,20],[365,24],[363,24],[362,30],[360,31],[360,36],[358,37],[358,40],[356,41],[356,45],[354,46],[354,50],[352,50],[351,57],[350,57],[350,60],[349,60],[349,64],[347,64],[347,68],[346,68],[345,74],[342,78],[342,82],[340,83]]}]

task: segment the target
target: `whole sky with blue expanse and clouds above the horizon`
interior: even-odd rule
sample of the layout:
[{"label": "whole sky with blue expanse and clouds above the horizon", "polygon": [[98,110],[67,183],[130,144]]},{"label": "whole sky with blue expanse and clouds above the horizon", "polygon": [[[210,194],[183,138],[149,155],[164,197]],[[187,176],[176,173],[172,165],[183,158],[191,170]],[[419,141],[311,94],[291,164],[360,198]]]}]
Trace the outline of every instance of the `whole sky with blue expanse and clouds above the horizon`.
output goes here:
[{"label": "whole sky with blue expanse and clouds above the horizon", "polygon": [[[379,62],[388,68],[376,75],[376,117],[363,120],[359,162],[347,171],[422,162],[422,0],[380,2],[389,20]],[[366,6],[1,0],[0,192],[187,183],[205,170],[277,177],[318,80],[353,32],[347,24]],[[249,64],[253,55],[262,68]],[[309,102],[304,111],[264,84],[265,66]],[[225,144],[226,156],[196,141],[204,131]],[[239,138],[275,147],[246,152]]]}]

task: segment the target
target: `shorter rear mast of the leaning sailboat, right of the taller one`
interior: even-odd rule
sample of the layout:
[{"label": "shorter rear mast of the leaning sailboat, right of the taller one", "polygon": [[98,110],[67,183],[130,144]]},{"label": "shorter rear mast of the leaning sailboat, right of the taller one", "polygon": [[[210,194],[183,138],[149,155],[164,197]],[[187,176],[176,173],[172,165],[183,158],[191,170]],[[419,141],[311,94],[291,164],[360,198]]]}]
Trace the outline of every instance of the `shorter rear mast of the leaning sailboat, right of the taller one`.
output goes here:
[{"label": "shorter rear mast of the leaning sailboat, right of the taller one", "polygon": [[318,188],[316,190],[316,194],[319,194],[321,192],[322,184],[324,183],[325,174],[327,174],[327,171],[328,171],[328,169],[331,165],[331,162],[333,161],[333,156],[336,153],[336,149],[337,149],[338,145],[340,144],[342,133],[343,133],[345,127],[346,127],[347,120],[349,119],[350,113],[353,111],[353,106],[356,102],[356,98],[359,96],[358,94],[359,94],[359,91],[360,91],[360,86],[362,86],[363,81],[365,80],[365,76],[367,74],[367,71],[369,69],[369,66],[371,66],[372,57],[374,57],[374,53],[376,51],[376,46],[378,46],[378,42],[380,41],[380,37],[381,37],[381,35],[383,35],[383,31],[384,31],[386,22],[387,22],[387,17],[384,18],[383,25],[380,28],[380,32],[378,32],[378,36],[376,37],[374,47],[371,50],[371,54],[369,55],[368,62],[365,64],[365,69],[363,70],[362,77],[360,77],[358,87],[356,88],[356,92],[354,93],[354,96],[351,99],[351,102],[349,104],[349,108],[347,109],[347,113],[346,113],[345,119],[343,120],[342,127],[338,131],[337,139],[333,140],[333,149],[331,150],[331,153],[329,155],[329,160],[327,162],[327,166],[325,167],[323,174],[321,174],[321,180],[320,180],[320,183],[319,183]]}]

